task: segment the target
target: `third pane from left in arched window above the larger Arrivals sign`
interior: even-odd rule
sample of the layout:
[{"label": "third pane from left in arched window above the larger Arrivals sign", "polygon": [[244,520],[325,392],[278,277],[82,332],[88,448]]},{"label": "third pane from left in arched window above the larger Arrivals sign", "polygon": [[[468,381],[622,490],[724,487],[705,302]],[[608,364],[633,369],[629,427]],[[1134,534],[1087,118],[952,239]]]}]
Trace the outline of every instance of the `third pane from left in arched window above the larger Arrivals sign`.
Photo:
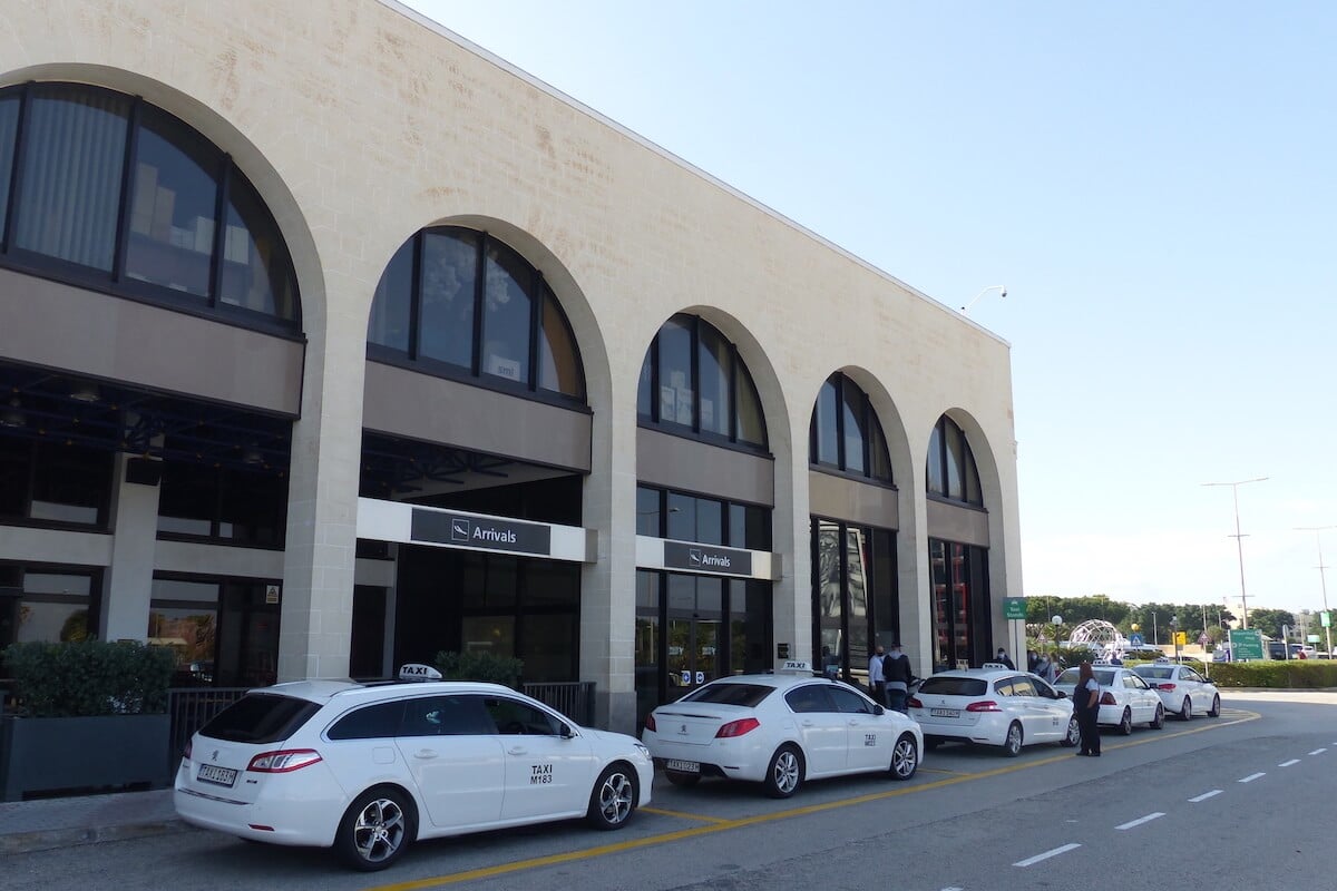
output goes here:
[{"label": "third pane from left in arched window above the larger Arrivals sign", "polygon": [[529,385],[533,270],[504,244],[489,243],[483,294],[483,373]]}]

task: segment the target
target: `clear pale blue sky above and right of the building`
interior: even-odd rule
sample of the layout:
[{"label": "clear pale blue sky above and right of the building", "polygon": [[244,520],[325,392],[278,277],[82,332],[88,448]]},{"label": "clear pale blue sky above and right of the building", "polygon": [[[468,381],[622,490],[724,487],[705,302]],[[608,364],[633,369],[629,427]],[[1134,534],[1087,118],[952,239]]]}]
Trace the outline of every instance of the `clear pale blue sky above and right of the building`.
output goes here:
[{"label": "clear pale blue sky above and right of the building", "polygon": [[413,0],[1012,345],[1024,592],[1337,609],[1337,4]]}]

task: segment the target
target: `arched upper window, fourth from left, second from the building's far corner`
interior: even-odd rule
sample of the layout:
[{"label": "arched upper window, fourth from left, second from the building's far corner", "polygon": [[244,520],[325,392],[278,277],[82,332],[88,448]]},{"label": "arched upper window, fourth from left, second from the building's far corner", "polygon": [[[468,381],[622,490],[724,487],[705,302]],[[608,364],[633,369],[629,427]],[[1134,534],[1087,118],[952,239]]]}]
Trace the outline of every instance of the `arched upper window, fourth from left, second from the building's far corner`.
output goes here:
[{"label": "arched upper window, fourth from left, second from the building's far corner", "polygon": [[878,482],[892,482],[886,437],[868,394],[837,371],[826,378],[808,431],[808,461]]}]

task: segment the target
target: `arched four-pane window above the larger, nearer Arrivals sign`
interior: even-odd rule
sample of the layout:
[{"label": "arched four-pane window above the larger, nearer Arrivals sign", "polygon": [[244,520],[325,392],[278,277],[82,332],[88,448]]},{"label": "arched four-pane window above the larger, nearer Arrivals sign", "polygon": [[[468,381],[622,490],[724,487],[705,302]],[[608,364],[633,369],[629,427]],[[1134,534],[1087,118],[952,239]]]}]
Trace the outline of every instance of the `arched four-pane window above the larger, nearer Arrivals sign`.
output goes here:
[{"label": "arched four-pane window above the larger, nearer Arrivals sign", "polygon": [[495,389],[584,401],[584,369],[539,270],[485,232],[425,228],[376,286],[368,358]]}]

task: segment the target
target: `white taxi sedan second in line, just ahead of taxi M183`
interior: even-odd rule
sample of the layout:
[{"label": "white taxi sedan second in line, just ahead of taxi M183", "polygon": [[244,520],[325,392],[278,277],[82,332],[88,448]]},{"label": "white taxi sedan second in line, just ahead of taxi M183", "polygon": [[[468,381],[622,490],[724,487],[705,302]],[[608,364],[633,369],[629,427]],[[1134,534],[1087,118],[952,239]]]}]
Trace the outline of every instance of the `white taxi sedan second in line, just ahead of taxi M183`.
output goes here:
[{"label": "white taxi sedan second in line, just ahead of taxi M183", "polygon": [[781,799],[806,780],[842,773],[908,780],[924,751],[919,724],[802,663],[698,687],[654,709],[640,739],[675,785],[725,776],[759,781]]}]

